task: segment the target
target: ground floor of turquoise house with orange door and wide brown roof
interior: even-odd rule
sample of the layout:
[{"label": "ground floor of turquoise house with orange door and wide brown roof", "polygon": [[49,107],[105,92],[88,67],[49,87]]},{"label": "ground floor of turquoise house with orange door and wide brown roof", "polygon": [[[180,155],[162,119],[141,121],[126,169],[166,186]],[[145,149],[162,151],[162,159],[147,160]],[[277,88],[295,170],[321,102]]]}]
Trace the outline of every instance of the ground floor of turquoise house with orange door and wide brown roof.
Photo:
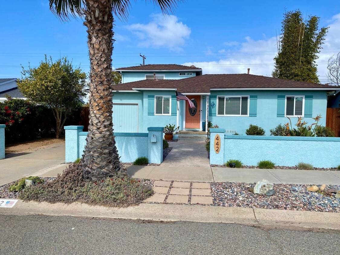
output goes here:
[{"label": "ground floor of turquoise house with orange door and wide brown roof", "polygon": [[[140,80],[113,87],[115,132],[147,132],[150,126],[175,124],[180,130],[202,130],[202,122],[245,134],[250,124],[270,129],[292,125],[302,116],[309,124],[321,114],[326,123],[327,91],[333,86],[296,82],[252,74],[205,74],[181,80]],[[176,101],[175,91],[188,102]]]}]

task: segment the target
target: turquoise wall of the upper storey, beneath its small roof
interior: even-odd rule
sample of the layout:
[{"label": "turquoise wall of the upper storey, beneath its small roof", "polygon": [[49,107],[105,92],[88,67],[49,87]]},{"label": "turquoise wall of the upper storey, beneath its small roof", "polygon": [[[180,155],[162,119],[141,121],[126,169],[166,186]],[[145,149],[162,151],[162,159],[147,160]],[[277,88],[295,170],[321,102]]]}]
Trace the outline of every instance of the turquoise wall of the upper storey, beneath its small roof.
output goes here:
[{"label": "turquoise wall of the upper storey, beneath its small roof", "polygon": [[[189,72],[189,71],[188,71]],[[122,71],[122,83],[135,82],[145,80],[145,75],[153,75],[154,72],[124,72]],[[165,75],[165,80],[179,80],[196,76],[195,72],[192,72],[192,76],[180,76],[180,72],[155,72],[156,75]]]}]

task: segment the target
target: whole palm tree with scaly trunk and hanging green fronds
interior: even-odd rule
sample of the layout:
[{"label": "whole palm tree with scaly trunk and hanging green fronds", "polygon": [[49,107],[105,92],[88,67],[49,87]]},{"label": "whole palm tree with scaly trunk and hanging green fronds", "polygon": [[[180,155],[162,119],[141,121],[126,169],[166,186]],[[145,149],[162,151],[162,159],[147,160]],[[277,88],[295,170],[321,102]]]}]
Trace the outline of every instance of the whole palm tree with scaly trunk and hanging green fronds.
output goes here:
[{"label": "whole palm tree with scaly trunk and hanging green fronds", "polygon": [[[112,124],[112,51],[114,16],[126,19],[130,0],[49,0],[62,20],[84,17],[90,57],[89,126],[81,163],[86,180],[99,180],[120,170]],[[151,1],[151,0],[150,0]],[[167,14],[181,0],[152,0]]]}]

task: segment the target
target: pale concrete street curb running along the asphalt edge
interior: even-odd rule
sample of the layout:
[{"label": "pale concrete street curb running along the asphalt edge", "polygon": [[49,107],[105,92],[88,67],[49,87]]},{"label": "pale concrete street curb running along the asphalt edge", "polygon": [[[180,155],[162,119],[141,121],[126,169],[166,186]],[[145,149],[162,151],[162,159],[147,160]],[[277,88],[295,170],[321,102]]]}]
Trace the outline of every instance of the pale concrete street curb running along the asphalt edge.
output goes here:
[{"label": "pale concrete street curb running along the asphalt edge", "polygon": [[49,215],[89,218],[112,218],[150,221],[191,221],[238,223],[259,227],[340,230],[340,214],[335,212],[252,209],[200,205],[140,204],[126,208],[87,204],[23,202],[13,208],[0,208],[6,215]]}]

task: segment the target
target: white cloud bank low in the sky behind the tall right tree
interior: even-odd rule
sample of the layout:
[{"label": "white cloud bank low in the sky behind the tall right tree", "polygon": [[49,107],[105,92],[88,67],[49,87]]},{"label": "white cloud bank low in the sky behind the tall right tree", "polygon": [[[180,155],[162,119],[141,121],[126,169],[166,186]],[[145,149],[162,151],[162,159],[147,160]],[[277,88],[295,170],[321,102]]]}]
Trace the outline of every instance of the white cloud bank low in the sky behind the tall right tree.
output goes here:
[{"label": "white cloud bank low in the sky behind the tall right tree", "polygon": [[[325,37],[323,49],[319,54],[318,75],[321,83],[326,83],[327,61],[330,56],[340,51],[340,14],[328,21],[328,33]],[[262,40],[245,37],[244,42],[226,42],[227,46],[219,50],[219,60],[207,62],[187,62],[183,65],[201,67],[204,73],[246,73],[250,68],[251,74],[271,76],[274,69],[273,58],[277,54],[276,36]],[[237,50],[235,46],[239,44]],[[229,52],[229,53],[228,53]],[[236,53],[235,53],[236,52]]]}]

